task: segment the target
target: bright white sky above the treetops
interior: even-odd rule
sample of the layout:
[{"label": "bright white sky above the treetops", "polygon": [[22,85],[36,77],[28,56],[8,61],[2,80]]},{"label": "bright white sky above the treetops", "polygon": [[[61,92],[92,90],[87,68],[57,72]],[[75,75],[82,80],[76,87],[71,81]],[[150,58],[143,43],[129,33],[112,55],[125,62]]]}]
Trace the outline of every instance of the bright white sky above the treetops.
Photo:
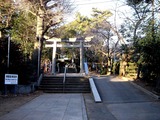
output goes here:
[{"label": "bright white sky above the treetops", "polygon": [[69,21],[74,20],[77,12],[90,17],[92,8],[98,8],[100,10],[110,10],[113,13],[110,21],[113,22],[116,16],[116,23],[119,25],[123,22],[124,15],[122,13],[129,14],[131,12],[129,7],[125,5],[125,0],[71,0],[71,2],[75,10],[68,17]]}]

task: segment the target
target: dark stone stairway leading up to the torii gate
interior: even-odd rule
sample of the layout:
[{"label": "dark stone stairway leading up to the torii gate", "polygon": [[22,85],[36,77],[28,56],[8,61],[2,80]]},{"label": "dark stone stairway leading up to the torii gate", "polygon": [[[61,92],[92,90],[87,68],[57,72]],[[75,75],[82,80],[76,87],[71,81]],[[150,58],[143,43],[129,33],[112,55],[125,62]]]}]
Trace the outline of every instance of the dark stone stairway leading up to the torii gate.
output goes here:
[{"label": "dark stone stairway leading up to the torii gate", "polygon": [[63,77],[45,76],[39,86],[40,90],[47,93],[90,93],[89,80],[86,77]]}]

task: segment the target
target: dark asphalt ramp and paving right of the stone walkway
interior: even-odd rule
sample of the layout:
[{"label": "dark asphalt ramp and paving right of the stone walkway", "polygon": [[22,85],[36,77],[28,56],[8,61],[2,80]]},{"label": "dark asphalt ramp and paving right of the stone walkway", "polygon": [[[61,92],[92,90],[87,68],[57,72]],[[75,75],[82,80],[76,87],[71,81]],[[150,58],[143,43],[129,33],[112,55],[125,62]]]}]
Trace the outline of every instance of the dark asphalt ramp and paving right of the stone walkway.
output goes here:
[{"label": "dark asphalt ramp and paving right of the stone walkway", "polygon": [[95,77],[102,103],[85,95],[89,120],[160,120],[160,102],[114,77]]}]

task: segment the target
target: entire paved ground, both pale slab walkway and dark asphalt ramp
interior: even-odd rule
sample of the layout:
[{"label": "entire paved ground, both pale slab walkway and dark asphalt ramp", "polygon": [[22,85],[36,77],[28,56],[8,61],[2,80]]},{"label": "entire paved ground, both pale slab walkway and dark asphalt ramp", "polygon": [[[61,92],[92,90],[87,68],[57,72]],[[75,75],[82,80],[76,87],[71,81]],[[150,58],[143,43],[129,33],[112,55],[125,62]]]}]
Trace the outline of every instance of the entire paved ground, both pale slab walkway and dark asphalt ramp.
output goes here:
[{"label": "entire paved ground, both pale slab walkway and dark asphalt ramp", "polygon": [[92,94],[43,94],[0,120],[160,120],[160,102],[127,80],[95,77],[95,82],[102,103]]}]

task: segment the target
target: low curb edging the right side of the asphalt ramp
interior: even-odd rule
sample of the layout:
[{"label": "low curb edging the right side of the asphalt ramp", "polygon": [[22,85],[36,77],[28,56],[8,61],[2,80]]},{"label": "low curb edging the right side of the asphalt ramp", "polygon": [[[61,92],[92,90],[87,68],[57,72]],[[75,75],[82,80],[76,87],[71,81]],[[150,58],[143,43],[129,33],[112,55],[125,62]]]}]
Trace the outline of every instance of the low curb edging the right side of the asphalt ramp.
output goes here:
[{"label": "low curb edging the right side of the asphalt ramp", "polygon": [[154,94],[154,93],[152,93],[152,92],[146,90],[145,88],[143,88],[143,87],[137,85],[136,83],[133,83],[133,82],[130,81],[130,80],[128,80],[128,81],[129,81],[134,87],[140,89],[141,91],[143,91],[144,93],[150,95],[151,97],[153,97],[153,98],[155,98],[155,99],[157,99],[157,100],[160,99],[160,96],[158,96],[158,95],[156,95],[156,94]]}]

